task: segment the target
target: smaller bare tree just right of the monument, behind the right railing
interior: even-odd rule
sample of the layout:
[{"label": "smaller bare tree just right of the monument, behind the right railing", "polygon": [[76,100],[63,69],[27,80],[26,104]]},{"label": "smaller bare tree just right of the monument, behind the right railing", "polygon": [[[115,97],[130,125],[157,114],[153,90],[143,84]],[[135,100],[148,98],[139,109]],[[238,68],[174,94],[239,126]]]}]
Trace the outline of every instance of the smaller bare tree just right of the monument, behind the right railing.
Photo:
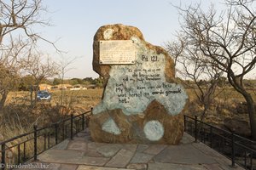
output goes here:
[{"label": "smaller bare tree just right of the monument, behind the right railing", "polygon": [[183,79],[191,80],[193,84],[183,81],[187,87],[193,90],[196,99],[203,106],[201,120],[206,116],[209,106],[212,104],[219,92],[216,93],[222,71],[206,63],[203,54],[198,48],[188,48],[188,43],[179,37],[177,42],[167,42],[166,49],[175,64],[179,67],[178,73]]}]

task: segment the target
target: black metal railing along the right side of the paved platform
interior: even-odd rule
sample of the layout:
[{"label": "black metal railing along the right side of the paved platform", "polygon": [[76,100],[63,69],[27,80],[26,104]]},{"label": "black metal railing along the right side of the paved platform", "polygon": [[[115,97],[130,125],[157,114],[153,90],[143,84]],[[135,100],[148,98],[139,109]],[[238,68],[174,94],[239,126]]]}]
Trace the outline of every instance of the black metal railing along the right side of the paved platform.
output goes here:
[{"label": "black metal railing along the right side of the paved platform", "polygon": [[240,165],[246,169],[256,169],[256,142],[236,135],[219,127],[198,120],[197,116],[184,116],[184,131],[213,150],[230,158],[231,167]]}]

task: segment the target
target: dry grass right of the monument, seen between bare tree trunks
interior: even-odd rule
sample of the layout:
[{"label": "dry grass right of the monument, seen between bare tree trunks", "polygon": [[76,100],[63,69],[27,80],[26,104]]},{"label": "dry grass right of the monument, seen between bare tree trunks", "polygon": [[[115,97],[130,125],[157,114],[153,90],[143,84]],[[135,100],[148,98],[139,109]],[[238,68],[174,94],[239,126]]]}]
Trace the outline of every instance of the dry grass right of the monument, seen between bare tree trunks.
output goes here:
[{"label": "dry grass right of the monument, seen between bare tree trunks", "polygon": [[[248,89],[247,91],[252,95],[254,101],[256,101],[255,91],[252,89]],[[187,93],[189,94],[190,105],[186,114],[190,116],[201,116],[203,106],[197,102],[192,89],[187,89]],[[212,105],[207,111],[204,119],[205,122],[220,126],[224,124],[224,119],[226,118],[236,118],[249,122],[247,106],[244,105],[245,99],[241,94],[233,88],[217,89],[216,94],[218,96],[213,100]]]}]

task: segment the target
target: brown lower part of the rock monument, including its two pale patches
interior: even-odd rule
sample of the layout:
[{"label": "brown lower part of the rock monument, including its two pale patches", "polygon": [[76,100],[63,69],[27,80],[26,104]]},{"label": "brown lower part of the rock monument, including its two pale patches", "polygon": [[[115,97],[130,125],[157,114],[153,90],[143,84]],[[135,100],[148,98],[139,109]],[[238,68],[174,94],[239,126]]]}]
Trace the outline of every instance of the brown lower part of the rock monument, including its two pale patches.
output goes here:
[{"label": "brown lower part of the rock monument, including its two pale patches", "polygon": [[138,115],[126,116],[121,110],[113,110],[91,116],[90,136],[105,143],[178,144],[183,137],[183,116],[169,115],[154,100]]}]

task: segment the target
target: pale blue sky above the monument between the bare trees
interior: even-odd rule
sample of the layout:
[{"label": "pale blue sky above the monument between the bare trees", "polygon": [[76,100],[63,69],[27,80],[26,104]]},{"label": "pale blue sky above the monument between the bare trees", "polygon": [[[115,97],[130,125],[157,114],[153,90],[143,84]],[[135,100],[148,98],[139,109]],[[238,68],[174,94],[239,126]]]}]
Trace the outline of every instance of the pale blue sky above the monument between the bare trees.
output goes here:
[{"label": "pale blue sky above the monument between the bare trees", "polygon": [[[177,9],[171,3],[183,5],[200,2],[198,0],[44,0],[53,26],[40,27],[37,31],[55,45],[67,52],[56,54],[55,49],[42,42],[44,53],[55,60],[73,60],[66,78],[98,77],[92,70],[92,42],[100,26],[124,24],[136,26],[143,32],[147,42],[162,46],[175,38],[179,29]],[[203,5],[209,4],[206,1]],[[212,1],[214,2],[214,1]]]}]

